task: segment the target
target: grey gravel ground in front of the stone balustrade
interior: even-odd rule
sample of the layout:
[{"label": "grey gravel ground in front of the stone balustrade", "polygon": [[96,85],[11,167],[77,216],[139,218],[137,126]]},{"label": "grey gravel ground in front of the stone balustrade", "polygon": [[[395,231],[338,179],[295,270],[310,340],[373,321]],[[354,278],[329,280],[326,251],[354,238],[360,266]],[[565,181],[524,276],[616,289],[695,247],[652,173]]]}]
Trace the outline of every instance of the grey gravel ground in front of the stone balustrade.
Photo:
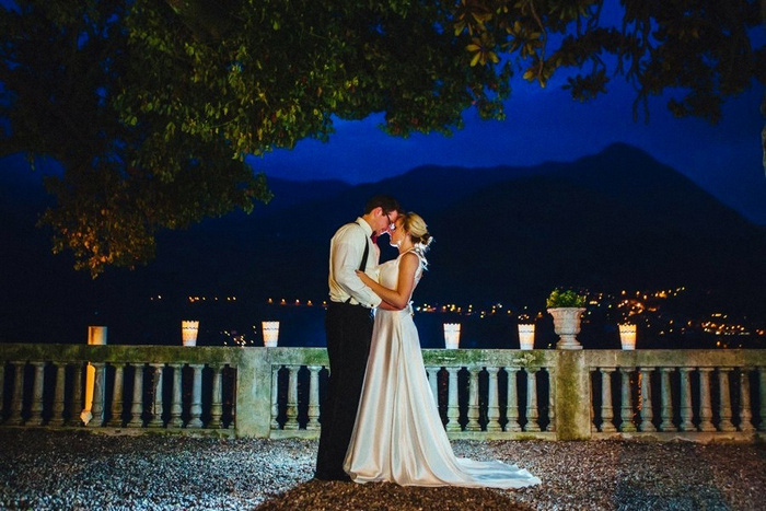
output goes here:
[{"label": "grey gravel ground in front of the stone balustrade", "polygon": [[454,441],[517,463],[520,490],[312,479],[316,442],[0,429],[3,509],[766,510],[766,445]]}]

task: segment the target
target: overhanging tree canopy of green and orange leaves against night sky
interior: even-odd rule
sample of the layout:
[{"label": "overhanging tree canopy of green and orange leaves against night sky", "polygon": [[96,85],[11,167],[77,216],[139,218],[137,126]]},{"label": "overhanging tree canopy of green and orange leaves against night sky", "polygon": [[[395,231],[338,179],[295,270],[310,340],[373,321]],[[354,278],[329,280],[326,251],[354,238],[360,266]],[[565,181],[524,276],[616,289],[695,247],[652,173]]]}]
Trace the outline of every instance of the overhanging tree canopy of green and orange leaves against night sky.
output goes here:
[{"label": "overhanging tree canopy of green and orange leaves against night sky", "polygon": [[144,264],[154,235],[270,191],[247,154],[326,140],[333,118],[385,113],[394,136],[503,118],[514,73],[573,98],[623,77],[635,112],[673,92],[678,116],[718,121],[766,83],[747,31],[757,0],[16,0],[0,10],[0,155],[58,161],[43,216],[54,251],[95,277]]}]

